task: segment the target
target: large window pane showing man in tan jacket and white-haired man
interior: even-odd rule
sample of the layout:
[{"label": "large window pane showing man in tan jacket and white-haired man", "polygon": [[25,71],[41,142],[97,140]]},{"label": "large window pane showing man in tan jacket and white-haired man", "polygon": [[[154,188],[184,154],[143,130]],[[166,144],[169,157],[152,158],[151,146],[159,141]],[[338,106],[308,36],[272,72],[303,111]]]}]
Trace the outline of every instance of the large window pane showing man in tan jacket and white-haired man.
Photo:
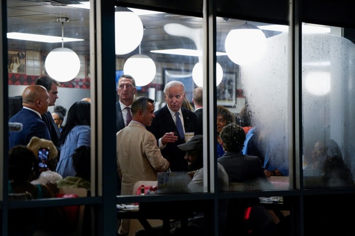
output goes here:
[{"label": "large window pane showing man in tan jacket and white-haired man", "polygon": [[[206,191],[206,187],[203,187],[204,178],[203,171],[201,171],[203,169],[202,148],[198,150],[199,153],[190,153],[191,155],[188,155],[185,160],[186,150],[190,151],[190,149],[177,147],[177,145],[185,143],[189,135],[200,134],[197,129],[198,123],[194,113],[192,96],[197,84],[202,84],[202,67],[197,69],[200,70],[197,75],[194,75],[193,72],[197,67],[196,64],[202,63],[202,19],[133,8],[116,7],[115,11],[116,83],[118,88],[116,112],[119,117],[116,129],[119,132],[117,135],[117,158],[122,181],[118,194],[140,194],[140,189],[137,191],[134,188],[137,181],[156,181],[143,184],[158,185],[158,192],[161,193]],[[131,20],[128,21],[128,17]],[[136,24],[125,29],[127,23],[133,21]],[[135,39],[138,40],[135,41]],[[148,62],[139,64],[139,61],[143,60]],[[120,78],[123,74],[131,75],[134,78],[136,91],[133,87],[127,88],[125,84],[133,81],[127,77]],[[196,76],[199,77],[198,82],[196,82]],[[182,93],[180,91],[173,93],[170,90],[166,92],[166,96],[164,95],[165,85],[173,81],[183,83],[185,95],[183,91],[181,91]],[[180,87],[177,86],[177,88]],[[125,106],[130,106],[133,98],[140,96],[154,100],[155,116],[152,117],[150,124],[150,119],[141,120],[133,113],[135,110],[131,109],[133,121],[144,124],[148,130],[139,129],[139,138],[135,138],[133,129],[136,127],[127,127],[129,118],[126,116],[128,112]],[[179,111],[181,106],[185,109],[179,116],[183,131],[177,129],[177,119],[174,114]],[[173,112],[173,116],[170,112]],[[126,132],[126,130],[130,130],[130,132]],[[152,137],[148,135],[149,131],[153,133],[154,140],[159,140],[166,133],[171,132],[174,132],[173,136],[176,137],[176,140],[166,143],[163,138],[162,141],[158,141],[159,149],[156,142],[147,143],[147,140]],[[145,134],[146,138],[141,138],[141,134]],[[138,139],[139,145],[136,143]],[[134,142],[127,140],[134,140]],[[202,142],[202,139],[200,141]],[[142,148],[137,149],[137,146],[142,146]],[[199,162],[198,165],[190,166],[193,171],[197,170],[199,173],[196,174],[196,178],[194,177],[194,181],[198,176],[201,177],[193,189],[190,189],[192,184],[188,186],[191,177],[187,174],[190,171],[188,163],[191,163],[189,161],[191,156],[197,158]],[[167,162],[170,164],[170,171],[186,173],[165,173],[167,171],[165,163]],[[148,190],[149,187],[145,187]],[[150,193],[153,191],[150,190]]]}]

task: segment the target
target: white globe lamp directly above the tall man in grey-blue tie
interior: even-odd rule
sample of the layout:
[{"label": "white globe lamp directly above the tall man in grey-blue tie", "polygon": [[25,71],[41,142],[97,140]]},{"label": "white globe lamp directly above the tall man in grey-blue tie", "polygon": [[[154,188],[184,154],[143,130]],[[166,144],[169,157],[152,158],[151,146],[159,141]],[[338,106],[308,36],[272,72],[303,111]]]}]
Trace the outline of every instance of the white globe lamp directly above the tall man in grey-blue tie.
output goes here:
[{"label": "white globe lamp directly above the tall man in grey-blue tie", "polygon": [[131,75],[136,86],[145,86],[154,80],[156,74],[154,61],[143,54],[136,54],[127,59],[123,73]]}]

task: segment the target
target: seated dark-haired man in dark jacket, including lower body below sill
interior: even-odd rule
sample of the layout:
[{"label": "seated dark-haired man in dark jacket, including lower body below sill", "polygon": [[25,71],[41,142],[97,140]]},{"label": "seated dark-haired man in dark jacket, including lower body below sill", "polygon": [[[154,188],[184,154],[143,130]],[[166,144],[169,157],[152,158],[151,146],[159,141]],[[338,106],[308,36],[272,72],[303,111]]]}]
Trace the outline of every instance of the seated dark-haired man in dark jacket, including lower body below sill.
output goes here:
[{"label": "seated dark-haired man in dark jacket, including lower body below sill", "polygon": [[[242,183],[243,190],[274,188],[266,178],[258,156],[241,153],[245,132],[240,126],[233,123],[225,126],[220,137],[226,153],[217,161],[226,170],[230,183]],[[252,209],[249,220],[243,219],[247,208]],[[226,231],[233,231],[231,235],[244,234],[246,232],[243,230],[246,229],[251,229],[253,233],[264,232],[265,235],[276,232],[276,224],[272,221],[270,212],[260,205],[259,198],[229,199],[226,222]]]}]

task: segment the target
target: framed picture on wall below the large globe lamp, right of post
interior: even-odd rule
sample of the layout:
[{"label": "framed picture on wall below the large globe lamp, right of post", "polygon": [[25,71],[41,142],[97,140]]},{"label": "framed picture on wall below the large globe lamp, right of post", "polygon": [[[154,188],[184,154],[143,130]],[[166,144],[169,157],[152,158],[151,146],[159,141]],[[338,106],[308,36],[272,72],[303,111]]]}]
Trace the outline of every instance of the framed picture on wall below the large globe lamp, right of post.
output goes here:
[{"label": "framed picture on wall below the large globe lamp, right of post", "polygon": [[222,82],[217,86],[217,105],[236,106],[235,73],[223,73]]}]

